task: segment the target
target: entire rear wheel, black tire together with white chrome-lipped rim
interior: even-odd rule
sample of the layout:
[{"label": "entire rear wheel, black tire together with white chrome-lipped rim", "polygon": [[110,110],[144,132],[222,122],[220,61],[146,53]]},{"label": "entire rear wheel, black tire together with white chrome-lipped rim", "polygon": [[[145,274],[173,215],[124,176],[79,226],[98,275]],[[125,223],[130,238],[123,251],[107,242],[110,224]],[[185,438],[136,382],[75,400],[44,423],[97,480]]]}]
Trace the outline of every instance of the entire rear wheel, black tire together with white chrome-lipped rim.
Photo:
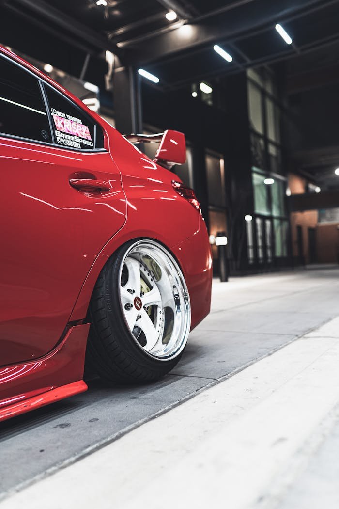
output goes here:
[{"label": "entire rear wheel, black tire together with white chrome-lipped rim", "polygon": [[183,274],[153,240],[121,246],[89,304],[89,369],[113,383],[150,382],[171,371],[186,346],[190,298]]}]

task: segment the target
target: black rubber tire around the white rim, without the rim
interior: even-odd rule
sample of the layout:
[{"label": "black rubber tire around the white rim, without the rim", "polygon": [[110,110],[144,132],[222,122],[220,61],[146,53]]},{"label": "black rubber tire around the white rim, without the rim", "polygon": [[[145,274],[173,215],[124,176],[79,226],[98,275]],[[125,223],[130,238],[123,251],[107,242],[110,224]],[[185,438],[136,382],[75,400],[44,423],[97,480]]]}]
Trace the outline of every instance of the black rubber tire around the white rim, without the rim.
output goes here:
[{"label": "black rubber tire around the white rim, without the rim", "polygon": [[86,369],[115,384],[147,383],[163,377],[179,361],[182,351],[171,359],[147,355],[136,344],[122,313],[119,285],[120,267],[129,242],[107,261],[97,280],[88,308],[90,329]]}]

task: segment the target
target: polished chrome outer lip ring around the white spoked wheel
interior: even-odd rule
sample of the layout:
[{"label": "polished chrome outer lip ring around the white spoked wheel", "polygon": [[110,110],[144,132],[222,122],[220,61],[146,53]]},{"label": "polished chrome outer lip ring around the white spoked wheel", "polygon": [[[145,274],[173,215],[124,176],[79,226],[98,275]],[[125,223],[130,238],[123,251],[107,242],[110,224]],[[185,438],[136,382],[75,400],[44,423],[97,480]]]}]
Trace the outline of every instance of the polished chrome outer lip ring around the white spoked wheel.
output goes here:
[{"label": "polished chrome outer lip ring around the white spoked wheel", "polygon": [[[127,258],[130,256],[130,254],[137,247],[142,247],[142,246],[145,246],[145,248],[149,248],[149,249],[159,249],[159,251],[163,254],[163,256],[167,257],[168,261],[170,262],[170,264],[173,265],[173,267],[175,269],[174,275],[177,278],[177,280],[179,281],[180,287],[181,287],[180,290],[182,292],[183,304],[184,304],[183,309],[181,310],[181,314],[183,315],[181,317],[181,320],[183,323],[183,333],[182,333],[181,340],[180,340],[180,338],[178,338],[178,340],[174,343],[174,346],[170,350],[170,353],[168,355],[159,355],[159,354],[153,355],[152,353],[145,350],[145,348],[137,341],[137,338],[134,336],[134,334],[132,333],[132,331],[129,327],[129,324],[128,324],[127,318],[126,318],[126,314],[124,312],[124,305],[121,301],[121,288],[122,287],[121,287],[120,282],[121,282],[121,275],[122,275],[122,270],[124,268],[125,262],[126,262]],[[158,262],[156,262],[156,263],[158,263]],[[163,267],[161,267],[161,268],[162,268],[162,270],[164,270]],[[173,276],[173,274],[172,274],[172,276]],[[145,355],[147,355],[148,357],[150,357],[152,359],[156,359],[159,361],[168,361],[168,360],[174,359],[178,355],[180,355],[180,353],[182,352],[182,350],[184,349],[184,347],[187,344],[188,336],[189,336],[190,329],[191,329],[191,301],[190,301],[190,294],[189,294],[183,273],[182,273],[177,261],[175,260],[175,258],[172,256],[172,254],[168,251],[168,249],[166,247],[164,247],[160,242],[157,242],[156,240],[147,239],[147,238],[137,240],[136,242],[134,242],[133,244],[131,244],[129,246],[126,253],[124,254],[124,258],[122,258],[121,263],[120,263],[119,275],[118,275],[118,296],[119,296],[119,304],[120,304],[120,308],[121,308],[121,313],[122,313],[122,316],[124,317],[124,321],[127,326],[128,332],[130,333],[131,337],[133,338],[135,344],[138,346],[138,348],[140,348],[143,351],[143,353]],[[135,298],[133,297],[132,300],[134,300],[134,299]],[[168,344],[170,344],[171,341],[172,341],[172,337],[168,341]]]}]

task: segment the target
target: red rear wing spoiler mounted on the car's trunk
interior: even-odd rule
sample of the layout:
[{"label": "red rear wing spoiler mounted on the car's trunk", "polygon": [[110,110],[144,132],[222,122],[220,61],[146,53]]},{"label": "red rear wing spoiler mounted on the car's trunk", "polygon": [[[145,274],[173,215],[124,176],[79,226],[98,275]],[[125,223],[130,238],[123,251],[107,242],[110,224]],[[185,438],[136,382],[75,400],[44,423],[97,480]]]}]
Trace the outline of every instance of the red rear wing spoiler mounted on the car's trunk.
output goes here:
[{"label": "red rear wing spoiler mounted on the car's trunk", "polygon": [[159,134],[126,134],[129,142],[160,143],[154,162],[171,169],[174,164],[183,164],[186,161],[186,139],[179,131],[167,130]]}]

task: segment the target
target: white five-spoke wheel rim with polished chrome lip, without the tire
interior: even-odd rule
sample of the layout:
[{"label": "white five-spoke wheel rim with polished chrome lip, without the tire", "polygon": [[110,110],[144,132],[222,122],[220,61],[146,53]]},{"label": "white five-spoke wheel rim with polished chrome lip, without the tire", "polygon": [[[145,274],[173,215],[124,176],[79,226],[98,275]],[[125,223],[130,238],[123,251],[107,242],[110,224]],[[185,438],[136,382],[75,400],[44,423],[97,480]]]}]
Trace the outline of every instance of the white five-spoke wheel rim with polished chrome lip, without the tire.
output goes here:
[{"label": "white five-spoke wheel rim with polished chrome lip, without the tire", "polygon": [[187,343],[189,293],[177,263],[160,244],[139,241],[120,270],[120,303],[127,327],[145,353],[174,358]]}]

